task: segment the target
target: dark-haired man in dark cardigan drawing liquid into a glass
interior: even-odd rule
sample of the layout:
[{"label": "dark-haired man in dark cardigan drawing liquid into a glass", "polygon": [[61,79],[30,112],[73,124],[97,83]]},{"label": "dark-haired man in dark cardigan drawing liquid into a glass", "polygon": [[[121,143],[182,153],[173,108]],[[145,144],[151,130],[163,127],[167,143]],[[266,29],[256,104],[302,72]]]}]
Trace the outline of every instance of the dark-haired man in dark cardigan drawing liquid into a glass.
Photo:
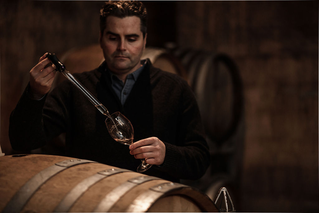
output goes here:
[{"label": "dark-haired man in dark cardigan drawing liquid into a glass", "polygon": [[14,149],[34,149],[66,133],[67,156],[136,171],[139,159],[154,164],[145,174],[179,182],[200,178],[209,152],[195,97],[186,81],[141,61],[146,9],[138,1],[109,1],[100,11],[105,62],[74,76],[112,114],[120,111],[134,128],[129,149],[115,142],[101,114],[69,81],[49,92],[55,66],[43,55],[10,117]]}]

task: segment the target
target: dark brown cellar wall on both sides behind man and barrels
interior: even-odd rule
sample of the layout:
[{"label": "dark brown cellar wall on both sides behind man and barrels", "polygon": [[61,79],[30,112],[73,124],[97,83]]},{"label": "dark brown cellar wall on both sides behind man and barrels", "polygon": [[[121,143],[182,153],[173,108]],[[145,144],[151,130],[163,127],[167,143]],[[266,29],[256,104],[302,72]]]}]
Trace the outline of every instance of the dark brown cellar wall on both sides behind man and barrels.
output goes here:
[{"label": "dark brown cellar wall on both sides behind man and barrels", "polygon": [[[1,1],[1,148],[45,52],[98,40],[102,1]],[[243,212],[318,212],[318,1],[145,1],[149,46],[223,52],[243,80]]]}]

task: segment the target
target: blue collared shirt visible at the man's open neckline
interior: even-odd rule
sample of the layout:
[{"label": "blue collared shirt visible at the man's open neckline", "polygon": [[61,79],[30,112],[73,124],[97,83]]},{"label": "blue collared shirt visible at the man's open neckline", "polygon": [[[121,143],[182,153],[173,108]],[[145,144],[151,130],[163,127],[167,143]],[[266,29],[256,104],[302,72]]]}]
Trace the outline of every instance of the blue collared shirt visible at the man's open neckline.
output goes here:
[{"label": "blue collared shirt visible at the man's open neckline", "polygon": [[112,88],[114,89],[117,97],[120,99],[122,106],[124,105],[126,98],[129,96],[139,74],[143,71],[146,60],[142,60],[141,64],[143,66],[126,76],[125,84],[113,72],[109,72],[111,75]]}]

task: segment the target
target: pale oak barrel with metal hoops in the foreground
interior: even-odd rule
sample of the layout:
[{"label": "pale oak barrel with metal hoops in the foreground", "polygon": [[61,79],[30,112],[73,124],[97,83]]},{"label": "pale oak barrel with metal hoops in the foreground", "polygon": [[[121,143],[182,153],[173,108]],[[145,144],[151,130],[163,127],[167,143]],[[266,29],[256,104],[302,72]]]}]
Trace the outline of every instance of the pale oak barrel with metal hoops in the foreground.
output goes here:
[{"label": "pale oak barrel with metal hoops in the foreground", "polygon": [[93,161],[0,157],[1,212],[218,212],[190,186]]}]

